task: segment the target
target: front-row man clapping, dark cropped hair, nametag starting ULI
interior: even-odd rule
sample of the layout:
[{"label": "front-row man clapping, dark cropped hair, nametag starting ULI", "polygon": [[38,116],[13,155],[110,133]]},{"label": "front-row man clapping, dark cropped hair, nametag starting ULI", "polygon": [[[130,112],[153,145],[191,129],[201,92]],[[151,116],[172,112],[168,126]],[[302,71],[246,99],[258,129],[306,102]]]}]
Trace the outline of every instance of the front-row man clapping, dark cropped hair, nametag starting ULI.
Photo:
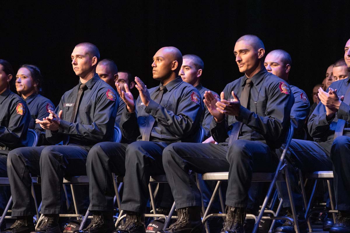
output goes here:
[{"label": "front-row man clapping, dark cropped hair, nametag starting ULI", "polygon": [[203,232],[201,193],[189,170],[229,171],[222,232],[244,232],[252,172],[275,170],[274,150],[288,130],[293,96],[285,81],[265,69],[265,48],[257,36],[240,37],[234,53],[239,71],[245,75],[226,85],[220,101],[210,91],[204,94],[204,103],[214,117],[210,133],[219,144],[174,143],[163,151],[163,166],[179,216],[167,233]]}]

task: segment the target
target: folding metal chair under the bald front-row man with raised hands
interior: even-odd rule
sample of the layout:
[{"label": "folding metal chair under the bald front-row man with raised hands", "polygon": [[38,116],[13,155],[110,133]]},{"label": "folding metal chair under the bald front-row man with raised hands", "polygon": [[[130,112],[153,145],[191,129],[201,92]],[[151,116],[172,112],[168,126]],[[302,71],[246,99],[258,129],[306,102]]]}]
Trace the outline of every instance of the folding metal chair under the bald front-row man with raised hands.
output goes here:
[{"label": "folding metal chair under the bald front-row man with raised hands", "polygon": [[[201,142],[203,142],[204,134],[205,134],[205,131],[204,131],[203,127],[200,126],[200,128],[198,129],[198,131],[195,134],[189,136],[188,138],[183,140],[183,142],[201,143]],[[123,182],[124,177],[117,176],[116,181]],[[164,218],[165,223],[163,226],[163,230],[165,230],[168,227],[170,220],[173,217],[173,214],[175,211],[175,202],[173,203],[173,206],[170,209],[168,216],[158,214],[157,210],[156,210],[156,206],[155,206],[155,201],[154,201],[155,193],[157,193],[157,191],[153,192],[152,183],[158,183],[157,187],[156,187],[156,190],[158,190],[159,183],[168,183],[168,180],[167,180],[166,175],[155,175],[155,176],[152,176],[150,178],[149,184],[148,184],[148,189],[149,189],[149,198],[150,198],[153,213],[144,214],[143,217]],[[119,195],[119,193],[118,193],[118,195]],[[117,222],[116,222],[116,227],[119,225],[120,221],[126,217],[126,215],[123,215],[123,212],[124,211],[122,210],[119,214],[119,217],[118,217]],[[175,218],[175,217],[173,217],[173,218]]]}]

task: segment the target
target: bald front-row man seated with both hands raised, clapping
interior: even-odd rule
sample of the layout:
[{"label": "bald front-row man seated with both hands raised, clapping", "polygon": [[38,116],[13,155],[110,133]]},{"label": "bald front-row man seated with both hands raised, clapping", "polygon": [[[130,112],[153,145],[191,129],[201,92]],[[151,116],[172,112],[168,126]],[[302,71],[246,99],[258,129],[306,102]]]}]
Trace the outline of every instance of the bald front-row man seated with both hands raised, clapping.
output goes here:
[{"label": "bald front-row man seated with both hands raised, clapping", "polygon": [[[110,232],[113,225],[114,189],[111,173],[124,175],[123,201],[126,223],[118,232],[145,232],[141,213],[148,201],[148,183],[153,174],[165,174],[162,151],[173,142],[179,142],[199,128],[202,113],[201,97],[192,85],[178,76],[182,64],[181,52],[175,47],[163,47],[153,57],[153,78],[160,85],[147,89],[135,77],[139,98],[118,85],[118,92],[126,103],[120,120],[123,135],[131,144],[104,142],[90,150],[87,157],[87,175],[90,180],[90,207],[94,212],[109,212],[109,218],[96,219],[83,232]],[[111,219],[111,220],[110,220]]]}]

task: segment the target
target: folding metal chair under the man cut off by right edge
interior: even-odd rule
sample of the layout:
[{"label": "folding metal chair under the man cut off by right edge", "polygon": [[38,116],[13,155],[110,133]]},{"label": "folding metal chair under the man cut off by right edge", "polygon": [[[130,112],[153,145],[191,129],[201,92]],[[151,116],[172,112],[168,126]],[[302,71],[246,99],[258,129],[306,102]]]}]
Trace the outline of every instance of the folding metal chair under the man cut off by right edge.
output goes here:
[{"label": "folding metal chair under the man cut off by right edge", "polygon": [[[305,219],[307,220],[307,224],[309,227],[309,232],[312,232],[312,227],[311,227],[311,223],[310,223],[310,215],[314,212],[328,212],[328,213],[332,213],[332,217],[333,220],[335,222],[335,217],[336,217],[336,213],[338,213],[338,210],[335,210],[335,201],[334,201],[334,196],[333,196],[333,189],[330,183],[330,180],[332,180],[334,178],[333,176],[333,172],[332,171],[317,171],[317,172],[313,172],[313,173],[309,173],[306,174],[306,179],[315,179],[315,183],[314,183],[314,187],[312,189],[311,195],[310,195],[310,200],[307,204],[307,208],[305,211]],[[301,178],[302,179],[302,178]],[[310,209],[312,208],[312,204],[313,204],[313,200],[314,200],[314,195],[315,192],[317,190],[318,187],[318,183],[320,180],[326,180],[327,181],[327,187],[328,187],[328,192],[329,192],[329,199],[330,199],[330,205],[331,205],[331,210],[321,210],[321,211],[317,211],[317,210],[313,210],[311,211]],[[301,180],[302,182],[302,180]],[[305,194],[305,189],[304,187],[302,187],[301,189],[302,191],[302,195],[304,198],[304,201],[306,201],[306,194]]]}]

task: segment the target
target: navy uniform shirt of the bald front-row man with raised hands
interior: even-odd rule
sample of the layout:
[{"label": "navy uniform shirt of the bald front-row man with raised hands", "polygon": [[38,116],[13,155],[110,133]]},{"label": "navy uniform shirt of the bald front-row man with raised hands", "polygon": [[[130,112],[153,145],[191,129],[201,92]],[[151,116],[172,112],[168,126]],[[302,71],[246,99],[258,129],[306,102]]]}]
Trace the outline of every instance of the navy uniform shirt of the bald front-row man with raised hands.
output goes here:
[{"label": "navy uniform shirt of the bald front-row man with raised hands", "polygon": [[152,127],[150,141],[153,142],[181,142],[198,129],[203,105],[197,89],[179,76],[166,85],[167,91],[158,104],[153,99],[161,85],[148,90],[151,96],[148,106],[138,97],[133,113],[124,108],[120,127],[127,140],[142,140],[148,117],[155,118],[153,127],[149,126]]}]

